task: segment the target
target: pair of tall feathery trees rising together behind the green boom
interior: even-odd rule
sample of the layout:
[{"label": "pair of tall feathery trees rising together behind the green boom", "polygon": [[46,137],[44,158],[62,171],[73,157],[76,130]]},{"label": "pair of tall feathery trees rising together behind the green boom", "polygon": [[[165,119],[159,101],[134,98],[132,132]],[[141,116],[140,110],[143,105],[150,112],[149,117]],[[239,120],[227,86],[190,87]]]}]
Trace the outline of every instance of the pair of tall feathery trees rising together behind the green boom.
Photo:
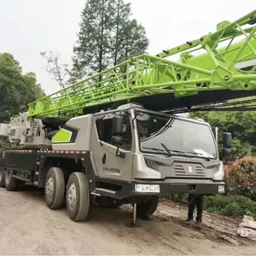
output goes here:
[{"label": "pair of tall feathery trees rising together behind the green boom", "polygon": [[73,48],[74,81],[101,73],[148,48],[145,29],[137,20],[130,20],[131,3],[88,0],[81,16],[78,41]]}]

